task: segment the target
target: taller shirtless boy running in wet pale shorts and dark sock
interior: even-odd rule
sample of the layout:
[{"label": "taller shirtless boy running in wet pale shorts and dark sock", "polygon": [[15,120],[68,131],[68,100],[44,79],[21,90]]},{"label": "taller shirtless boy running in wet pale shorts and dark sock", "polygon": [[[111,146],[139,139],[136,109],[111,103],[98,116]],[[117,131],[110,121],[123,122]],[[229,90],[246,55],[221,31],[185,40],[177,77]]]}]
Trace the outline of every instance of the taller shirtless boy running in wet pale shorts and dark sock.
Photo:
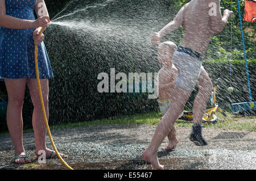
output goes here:
[{"label": "taller shirtless boy running in wet pale shorts and dark sock", "polygon": [[[216,5],[216,14],[210,13],[212,6]],[[196,145],[207,145],[201,134],[201,117],[203,116],[207,100],[212,92],[212,82],[202,66],[202,56],[207,50],[213,35],[220,33],[233,12],[225,10],[223,17],[220,10],[220,0],[192,0],[185,4],[172,22],[168,23],[158,33],[154,33],[152,41],[159,44],[160,39],[168,32],[180,26],[184,28],[184,36],[180,46],[174,53],[172,61],[178,70],[176,86],[172,95],[172,102],[166,114],[158,124],[154,136],[144,150],[142,157],[151,162],[156,169],[164,169],[160,165],[157,151],[164,138],[170,133],[179,114],[184,110],[193,87],[197,85],[197,93],[193,105],[193,126],[190,140]]]}]

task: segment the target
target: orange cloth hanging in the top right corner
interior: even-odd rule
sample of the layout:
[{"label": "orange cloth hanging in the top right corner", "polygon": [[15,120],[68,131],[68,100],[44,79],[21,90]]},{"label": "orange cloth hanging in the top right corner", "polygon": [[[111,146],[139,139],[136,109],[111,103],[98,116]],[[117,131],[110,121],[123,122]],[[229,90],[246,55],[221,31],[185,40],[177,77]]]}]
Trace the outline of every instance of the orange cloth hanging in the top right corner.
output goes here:
[{"label": "orange cloth hanging in the top right corner", "polygon": [[256,20],[256,0],[245,0],[244,21],[253,23]]}]

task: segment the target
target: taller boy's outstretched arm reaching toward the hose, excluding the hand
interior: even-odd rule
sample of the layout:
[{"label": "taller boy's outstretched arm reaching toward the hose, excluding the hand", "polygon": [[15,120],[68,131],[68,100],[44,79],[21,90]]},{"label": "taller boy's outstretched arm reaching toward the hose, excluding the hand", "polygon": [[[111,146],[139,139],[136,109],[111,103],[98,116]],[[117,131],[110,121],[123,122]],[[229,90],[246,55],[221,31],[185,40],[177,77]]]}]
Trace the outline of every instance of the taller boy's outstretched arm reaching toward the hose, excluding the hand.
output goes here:
[{"label": "taller boy's outstretched arm reaching toward the hose, excluding the hand", "polygon": [[170,23],[168,23],[165,27],[163,27],[162,30],[160,30],[158,33],[160,37],[163,37],[167,33],[176,30],[183,24],[184,20],[184,6],[180,9],[180,11],[175,16],[174,20],[172,20]]}]

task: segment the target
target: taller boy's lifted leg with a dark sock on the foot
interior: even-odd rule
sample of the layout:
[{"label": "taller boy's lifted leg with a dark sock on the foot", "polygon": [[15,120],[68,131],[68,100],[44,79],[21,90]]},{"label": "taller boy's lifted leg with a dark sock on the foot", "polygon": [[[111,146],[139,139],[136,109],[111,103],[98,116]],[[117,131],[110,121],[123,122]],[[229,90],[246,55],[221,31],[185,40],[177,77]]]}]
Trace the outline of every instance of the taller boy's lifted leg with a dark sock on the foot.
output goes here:
[{"label": "taller boy's lifted leg with a dark sock on the foot", "polygon": [[197,87],[199,88],[199,92],[196,95],[193,105],[193,126],[190,139],[195,142],[196,145],[203,146],[207,145],[207,142],[201,135],[202,117],[205,112],[207,100],[212,92],[212,81],[204,69],[200,73]]}]

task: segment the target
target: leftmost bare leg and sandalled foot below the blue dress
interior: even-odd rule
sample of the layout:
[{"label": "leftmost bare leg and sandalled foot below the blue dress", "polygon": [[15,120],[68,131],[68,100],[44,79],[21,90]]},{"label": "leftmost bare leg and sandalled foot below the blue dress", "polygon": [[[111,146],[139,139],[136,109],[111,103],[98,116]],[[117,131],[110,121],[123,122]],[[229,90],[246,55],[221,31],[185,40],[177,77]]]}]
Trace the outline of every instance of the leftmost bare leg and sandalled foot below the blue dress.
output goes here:
[{"label": "leftmost bare leg and sandalled foot below the blue dress", "polygon": [[[8,94],[8,106],[6,112],[7,127],[13,140],[15,157],[26,155],[23,147],[23,119],[22,107],[26,88],[26,78],[8,79],[5,78],[5,85]],[[15,159],[15,163],[30,162],[27,158]]]}]

